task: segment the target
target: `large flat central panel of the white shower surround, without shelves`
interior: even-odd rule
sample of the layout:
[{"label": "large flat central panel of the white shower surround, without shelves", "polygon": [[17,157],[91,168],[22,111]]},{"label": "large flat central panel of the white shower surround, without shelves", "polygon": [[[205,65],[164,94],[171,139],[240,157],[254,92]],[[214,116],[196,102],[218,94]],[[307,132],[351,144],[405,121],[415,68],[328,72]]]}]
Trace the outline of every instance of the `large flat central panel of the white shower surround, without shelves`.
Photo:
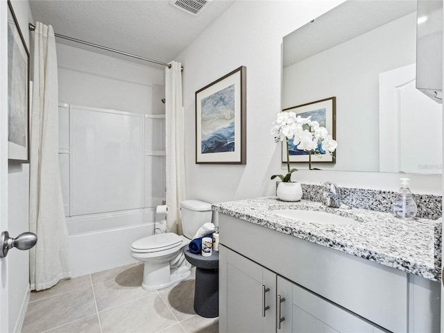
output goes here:
[{"label": "large flat central panel of the white shower surround, without shelves", "polygon": [[142,114],[73,106],[71,215],[144,207]]}]

